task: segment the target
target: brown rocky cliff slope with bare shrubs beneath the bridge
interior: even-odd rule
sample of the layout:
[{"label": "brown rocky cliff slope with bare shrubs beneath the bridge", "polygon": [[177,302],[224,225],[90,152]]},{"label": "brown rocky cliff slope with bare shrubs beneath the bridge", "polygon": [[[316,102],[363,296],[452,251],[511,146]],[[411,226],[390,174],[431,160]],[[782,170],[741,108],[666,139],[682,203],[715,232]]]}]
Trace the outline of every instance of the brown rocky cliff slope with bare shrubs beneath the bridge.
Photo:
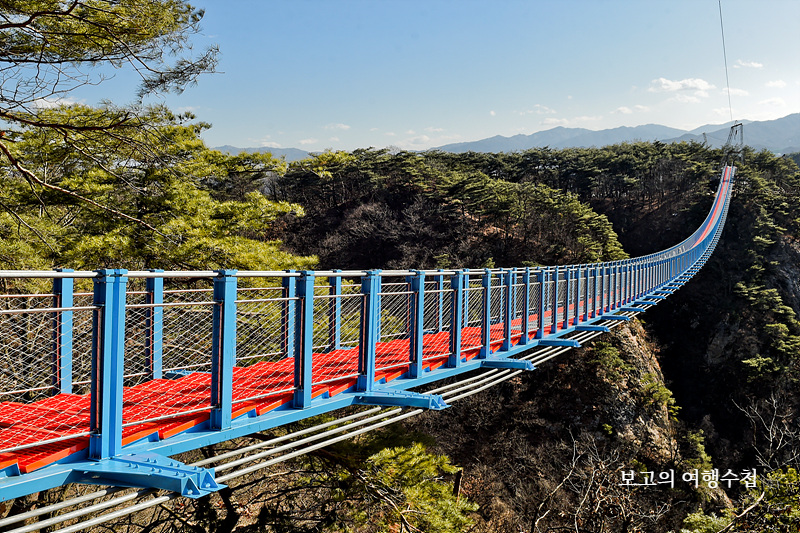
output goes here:
[{"label": "brown rocky cliff slope with bare shrubs beneath the bridge", "polygon": [[[576,521],[668,531],[679,529],[698,496],[680,480],[692,466],[683,455],[696,450],[679,445],[675,410],[656,352],[634,320],[410,425],[434,435],[438,451],[464,468],[463,490],[480,505],[485,531]],[[621,486],[630,470],[673,470],[675,490]]]}]

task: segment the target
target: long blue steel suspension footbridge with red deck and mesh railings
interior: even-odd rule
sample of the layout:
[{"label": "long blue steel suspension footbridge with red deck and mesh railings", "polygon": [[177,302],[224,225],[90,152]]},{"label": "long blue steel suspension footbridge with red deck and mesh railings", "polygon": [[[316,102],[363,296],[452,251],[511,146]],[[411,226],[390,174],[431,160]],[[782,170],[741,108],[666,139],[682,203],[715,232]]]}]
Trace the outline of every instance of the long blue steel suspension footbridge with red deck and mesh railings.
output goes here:
[{"label": "long blue steel suspension footbridge with red deck and mesh railings", "polygon": [[[28,406],[31,425],[28,415],[41,403],[91,399],[88,421],[68,417],[57,435],[33,441],[3,420],[0,459],[10,462],[43,444],[88,437],[89,445],[64,464],[22,475],[0,470],[0,500],[87,481],[87,461],[172,455],[353,404],[441,408],[441,398],[410,389],[479,368],[532,369],[513,356],[577,346],[569,334],[626,320],[622,313],[647,309],[691,278],[719,239],[734,170],[723,170],[713,206],[690,237],[621,261],[483,270],[0,271],[10,288],[0,296],[0,408]],[[42,283],[51,292],[22,290],[41,291]],[[234,374],[256,366],[267,369],[256,378],[264,386],[238,390]],[[137,403],[134,391],[148,383],[187,376],[210,376],[210,386],[184,386],[184,403]],[[263,414],[247,409],[287,395]],[[200,422],[162,439],[137,433],[174,419]]]}]

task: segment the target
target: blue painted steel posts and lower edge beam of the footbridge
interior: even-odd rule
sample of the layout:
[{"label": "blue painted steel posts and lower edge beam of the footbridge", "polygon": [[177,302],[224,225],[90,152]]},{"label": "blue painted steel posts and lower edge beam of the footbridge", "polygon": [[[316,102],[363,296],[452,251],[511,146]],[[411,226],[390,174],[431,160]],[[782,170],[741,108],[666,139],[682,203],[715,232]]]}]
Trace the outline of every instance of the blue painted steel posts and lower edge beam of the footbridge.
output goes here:
[{"label": "blue painted steel posts and lower edge beam of the footbridge", "polygon": [[[447,364],[435,370],[425,371],[422,365],[422,335],[425,323],[425,273],[412,272],[407,282],[410,284],[410,316],[409,316],[409,372],[400,378],[377,386],[376,345],[380,338],[381,318],[381,272],[370,271],[362,278],[362,318],[359,345],[359,378],[355,391],[344,392],[333,398],[312,398],[311,363],[313,358],[313,307],[314,280],[313,271],[304,271],[299,277],[285,277],[284,311],[282,320],[283,347],[287,355],[295,360],[295,396],[291,404],[271,411],[262,416],[254,412],[232,419],[232,371],[236,357],[236,287],[235,271],[219,271],[214,278],[214,308],[212,332],[212,391],[211,417],[201,424],[182,434],[151,442],[140,441],[121,446],[122,433],[122,373],[124,367],[125,344],[125,297],[127,272],[125,270],[101,270],[94,280],[94,312],[92,386],[91,386],[91,420],[92,434],[88,452],[81,458],[75,454],[70,462],[55,464],[41,470],[21,475],[0,478],[0,500],[19,497],[32,492],[52,488],[71,481],[80,481],[81,465],[95,465],[98,460],[106,460],[122,455],[156,453],[162,456],[174,455],[196,449],[201,446],[216,444],[272,427],[288,424],[304,418],[326,413],[353,404],[369,403],[370,395],[391,391],[407,391],[444,378],[457,376],[465,372],[487,366],[502,366],[513,363],[510,358],[539,345],[576,345],[564,337],[574,331],[602,330],[595,323],[603,319],[627,319],[616,313],[626,310],[643,311],[647,305],[659,301],[660,297],[673,292],[688,281],[705,263],[716,245],[727,215],[730,199],[728,182],[733,178],[732,167],[726,167],[720,180],[714,205],[706,220],[688,239],[682,243],[656,254],[629,259],[623,262],[585,265],[578,267],[539,268],[533,271],[502,270],[500,291],[502,293],[502,315],[504,339],[500,348],[492,352],[488,344],[491,342],[491,280],[492,271],[483,272],[482,287],[484,289],[483,309],[483,347],[480,357],[463,360],[461,352],[461,330],[468,320],[467,289],[469,287],[469,271],[455,271],[451,276],[451,323],[450,323],[450,356]],[[702,237],[702,239],[701,239]],[[566,297],[559,297],[559,278],[564,273]],[[515,279],[522,274],[524,311],[520,317],[520,329],[523,340],[512,344],[511,321],[517,318],[517,297],[515,296]],[[583,276],[583,277],[582,277]],[[157,278],[156,278],[157,279]],[[54,283],[56,306],[69,307],[71,280]],[[581,281],[583,280],[583,281]],[[437,328],[444,328],[444,298],[439,287],[443,287],[444,273],[434,275],[437,315]],[[163,282],[163,280],[162,280]],[[582,283],[582,285],[581,285]],[[546,286],[551,284],[552,291]],[[570,298],[574,284],[574,300]],[[538,298],[531,298],[532,288],[538,285]],[[582,290],[581,290],[582,287]],[[158,304],[156,294],[161,289],[157,283],[148,284],[152,293],[150,303]],[[332,284],[334,293],[341,293],[341,284]],[[548,294],[549,292],[549,294]],[[589,299],[592,303],[589,303]],[[548,301],[549,300],[549,301]],[[563,303],[562,320],[558,320],[559,305]],[[70,304],[70,305],[68,305]],[[571,312],[569,306],[573,305]],[[157,305],[156,305],[157,307]],[[583,309],[583,312],[581,310]],[[551,312],[549,329],[545,333],[545,312]],[[56,331],[55,359],[58,364],[55,371],[60,383],[59,390],[66,392],[69,382],[65,375],[71,350],[71,331],[67,331],[69,311],[54,312],[54,330]],[[535,334],[530,330],[531,314],[538,314]],[[157,317],[151,313],[151,328],[157,329]],[[340,327],[339,319],[333,321],[334,329]],[[334,337],[336,338],[336,337]],[[157,374],[155,352],[159,350],[155,338],[151,341],[153,354],[152,375]],[[365,394],[367,393],[367,394]],[[402,398],[399,394],[397,397]],[[420,400],[420,397],[407,394],[409,405]],[[82,462],[83,461],[83,462]]]}]

